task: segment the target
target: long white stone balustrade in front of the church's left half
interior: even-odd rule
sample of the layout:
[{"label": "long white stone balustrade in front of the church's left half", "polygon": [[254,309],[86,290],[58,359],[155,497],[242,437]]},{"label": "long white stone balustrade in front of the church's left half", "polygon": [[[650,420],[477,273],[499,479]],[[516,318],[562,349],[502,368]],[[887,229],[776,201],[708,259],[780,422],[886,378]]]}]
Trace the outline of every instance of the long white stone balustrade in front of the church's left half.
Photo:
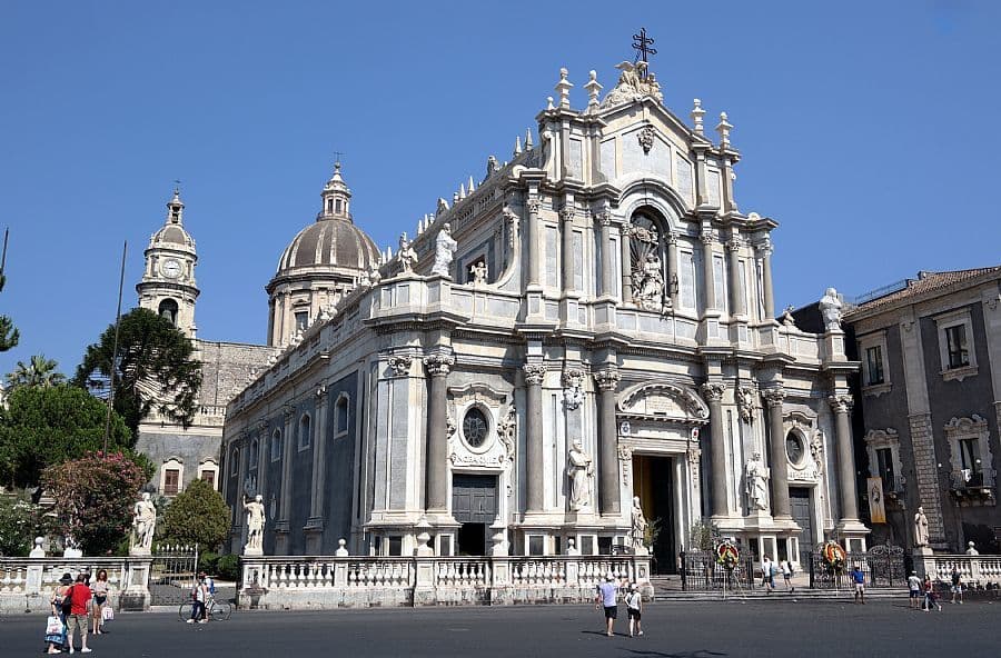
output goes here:
[{"label": "long white stone balustrade in front of the church's left half", "polygon": [[579,602],[612,572],[650,584],[650,558],[244,557],[240,607],[330,609],[368,606]]}]

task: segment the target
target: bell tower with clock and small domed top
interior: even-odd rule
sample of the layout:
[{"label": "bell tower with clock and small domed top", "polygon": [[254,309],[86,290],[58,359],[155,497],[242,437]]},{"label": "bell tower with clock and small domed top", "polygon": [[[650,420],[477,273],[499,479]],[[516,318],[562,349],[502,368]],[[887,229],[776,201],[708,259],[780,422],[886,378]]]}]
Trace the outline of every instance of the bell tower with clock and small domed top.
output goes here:
[{"label": "bell tower with clock and small domed top", "polygon": [[185,203],[180,190],[167,202],[167,219],[149,239],[146,248],[146,268],[136,285],[139,306],[165,317],[185,336],[195,338],[195,300],[198,285],[195,282],[195,265],[198,253],[195,240],[184,227]]}]

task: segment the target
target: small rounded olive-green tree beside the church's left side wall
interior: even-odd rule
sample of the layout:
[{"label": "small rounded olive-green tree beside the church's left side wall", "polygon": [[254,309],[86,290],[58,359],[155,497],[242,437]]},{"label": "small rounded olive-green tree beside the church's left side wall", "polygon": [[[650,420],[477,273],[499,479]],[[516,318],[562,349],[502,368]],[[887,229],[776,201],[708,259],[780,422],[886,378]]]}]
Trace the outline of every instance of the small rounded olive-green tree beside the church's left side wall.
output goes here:
[{"label": "small rounded olive-green tree beside the church's left side wall", "polygon": [[217,550],[229,534],[229,507],[205,480],[195,480],[163,512],[163,540]]}]

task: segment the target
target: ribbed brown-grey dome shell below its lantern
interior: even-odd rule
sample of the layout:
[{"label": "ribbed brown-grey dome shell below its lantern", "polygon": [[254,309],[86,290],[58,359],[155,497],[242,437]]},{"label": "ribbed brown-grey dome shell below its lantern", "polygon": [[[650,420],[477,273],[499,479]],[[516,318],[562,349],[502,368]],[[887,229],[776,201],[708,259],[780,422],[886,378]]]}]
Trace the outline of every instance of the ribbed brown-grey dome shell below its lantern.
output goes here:
[{"label": "ribbed brown-grey dome shell below its lantern", "polygon": [[293,239],[278,260],[276,277],[303,270],[368,271],[379,261],[379,250],[365,231],[345,219],[319,219]]}]

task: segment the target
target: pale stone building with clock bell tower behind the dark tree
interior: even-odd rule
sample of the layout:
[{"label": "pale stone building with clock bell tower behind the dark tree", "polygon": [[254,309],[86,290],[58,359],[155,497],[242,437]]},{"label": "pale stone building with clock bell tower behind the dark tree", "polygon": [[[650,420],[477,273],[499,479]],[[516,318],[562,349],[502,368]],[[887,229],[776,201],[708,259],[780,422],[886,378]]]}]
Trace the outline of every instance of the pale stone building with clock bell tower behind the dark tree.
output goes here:
[{"label": "pale stone building with clock bell tower behind the dark tree", "polygon": [[184,226],[185,205],[179,190],[167,203],[163,226],[150,237],[146,267],[136,286],[139,306],[167,318],[195,346],[201,361],[202,385],[192,423],[162,418],[153,411],[139,425],[136,449],[157,467],[151,485],[162,496],[176,496],[195,478],[219,488],[220,445],[226,405],[252,376],[264,370],[276,349],[238,342],[218,342],[196,337],[195,279],[198,253]]}]

